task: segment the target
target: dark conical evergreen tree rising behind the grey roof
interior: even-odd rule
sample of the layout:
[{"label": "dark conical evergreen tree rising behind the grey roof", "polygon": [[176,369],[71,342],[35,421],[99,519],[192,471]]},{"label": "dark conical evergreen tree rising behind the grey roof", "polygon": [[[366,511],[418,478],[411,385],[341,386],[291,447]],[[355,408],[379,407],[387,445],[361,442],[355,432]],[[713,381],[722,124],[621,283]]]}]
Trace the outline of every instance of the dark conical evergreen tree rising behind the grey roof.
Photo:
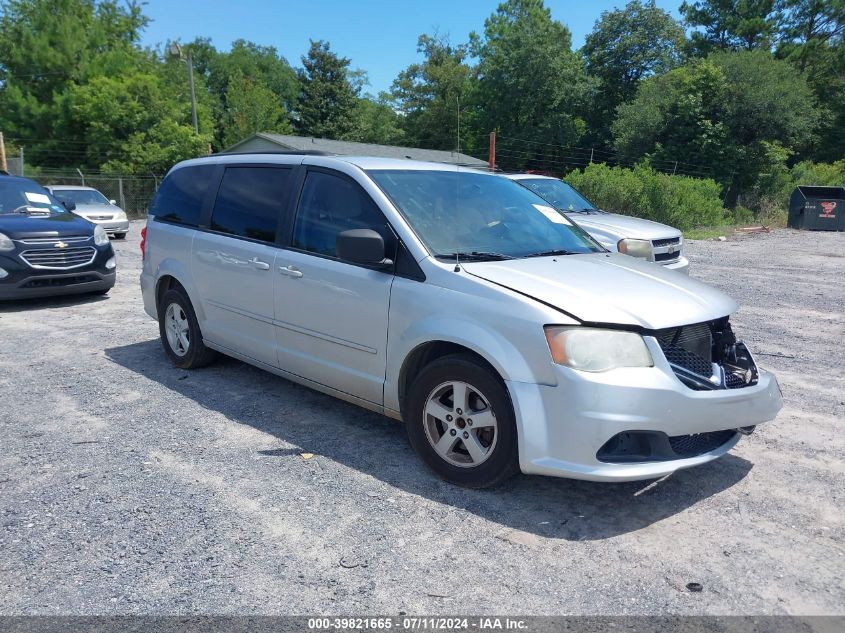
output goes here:
[{"label": "dark conical evergreen tree rising behind the grey roof", "polygon": [[358,103],[358,92],[350,81],[349,60],[333,53],[328,42],[312,40],[302,66],[297,132],[321,138],[348,138],[355,130]]}]

